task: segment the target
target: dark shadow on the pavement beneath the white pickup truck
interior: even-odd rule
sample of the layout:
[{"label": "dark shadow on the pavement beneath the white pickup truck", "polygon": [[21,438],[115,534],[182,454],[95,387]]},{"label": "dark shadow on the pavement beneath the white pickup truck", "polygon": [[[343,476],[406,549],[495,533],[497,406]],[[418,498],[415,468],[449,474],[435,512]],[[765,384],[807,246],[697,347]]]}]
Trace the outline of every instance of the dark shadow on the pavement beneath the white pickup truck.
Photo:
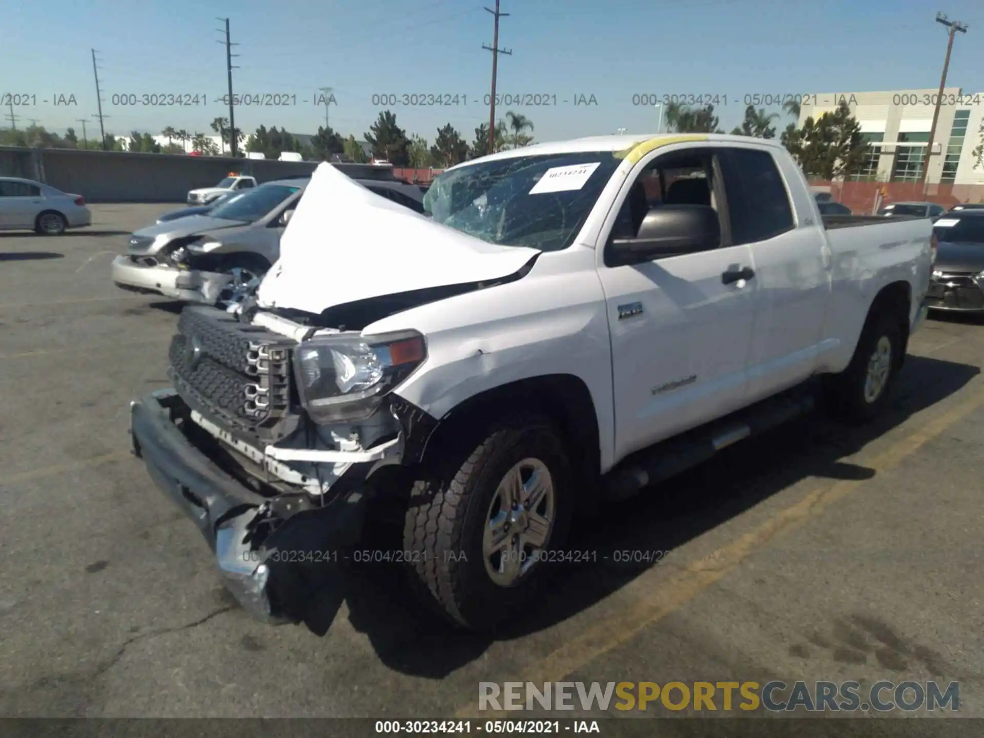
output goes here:
[{"label": "dark shadow on the pavement beneath the white pickup truck", "polygon": [[[808,477],[874,477],[874,469],[841,460],[952,396],[979,372],[975,366],[910,355],[891,408],[869,426],[843,426],[817,411],[779,432],[736,444],[657,490],[603,506],[590,521],[576,524],[566,547],[597,551],[597,563],[561,571],[541,591],[536,607],[496,638],[519,638],[556,625],[657,566],[615,564],[610,557],[602,561],[607,552],[672,550]],[[370,529],[366,538],[362,549],[401,548],[400,531],[386,525]],[[352,626],[367,635],[385,664],[401,673],[440,679],[479,658],[493,641],[455,630],[417,604],[400,565],[354,565],[346,577]]]}]

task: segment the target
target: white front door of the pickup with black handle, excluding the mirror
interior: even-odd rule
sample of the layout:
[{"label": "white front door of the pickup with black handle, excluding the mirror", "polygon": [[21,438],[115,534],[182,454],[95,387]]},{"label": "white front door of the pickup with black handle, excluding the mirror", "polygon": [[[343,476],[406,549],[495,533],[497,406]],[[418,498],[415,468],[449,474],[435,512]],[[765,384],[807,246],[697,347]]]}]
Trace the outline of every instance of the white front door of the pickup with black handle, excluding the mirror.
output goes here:
[{"label": "white front door of the pickup with black handle, excluding the mirror", "polygon": [[714,208],[722,235],[717,248],[700,253],[599,265],[612,343],[615,461],[742,405],[758,290],[754,277],[733,277],[755,265],[748,244],[730,242],[710,146],[650,154],[620,199],[604,244],[635,235],[647,210],[663,205]]}]

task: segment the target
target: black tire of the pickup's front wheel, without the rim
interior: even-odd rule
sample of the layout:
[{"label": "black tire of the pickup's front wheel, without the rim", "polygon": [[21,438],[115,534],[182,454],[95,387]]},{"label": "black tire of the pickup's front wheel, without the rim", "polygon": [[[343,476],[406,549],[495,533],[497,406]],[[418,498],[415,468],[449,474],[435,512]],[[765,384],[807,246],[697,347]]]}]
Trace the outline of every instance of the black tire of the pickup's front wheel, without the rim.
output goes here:
[{"label": "black tire of the pickup's front wheel, without the rim", "polygon": [[574,508],[571,464],[559,434],[538,416],[499,422],[477,446],[442,456],[446,461],[423,469],[410,493],[403,548],[411,584],[453,623],[490,631],[529,601],[555,563],[554,557],[540,558],[511,586],[487,573],[482,533],[499,483],[521,461],[546,467],[554,518],[543,551],[558,551]]}]

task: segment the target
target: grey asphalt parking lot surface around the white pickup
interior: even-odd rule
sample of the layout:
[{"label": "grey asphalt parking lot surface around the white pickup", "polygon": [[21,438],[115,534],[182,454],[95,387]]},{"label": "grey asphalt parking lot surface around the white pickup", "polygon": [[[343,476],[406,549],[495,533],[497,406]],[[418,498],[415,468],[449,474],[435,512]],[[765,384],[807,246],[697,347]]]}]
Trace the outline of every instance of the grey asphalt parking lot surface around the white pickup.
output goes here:
[{"label": "grey asphalt parking lot surface around the white pickup", "polygon": [[[927,322],[877,426],[807,418],[583,523],[599,560],[501,640],[434,622],[386,565],[318,638],[240,611],[128,453],[177,308],[109,263],[173,207],[0,233],[0,714],[450,718],[483,681],[935,679],[984,716],[984,321]],[[630,550],[658,563],[609,555]]]}]

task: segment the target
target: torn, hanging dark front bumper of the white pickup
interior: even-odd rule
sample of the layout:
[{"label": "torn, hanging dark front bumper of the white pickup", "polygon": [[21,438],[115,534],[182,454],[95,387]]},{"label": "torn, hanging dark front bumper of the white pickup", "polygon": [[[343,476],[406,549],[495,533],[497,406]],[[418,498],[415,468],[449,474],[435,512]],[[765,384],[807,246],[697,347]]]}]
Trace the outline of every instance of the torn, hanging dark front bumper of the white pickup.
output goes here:
[{"label": "torn, hanging dark front bumper of the white pickup", "polygon": [[[215,553],[227,588],[272,624],[324,621],[337,611],[343,551],[361,536],[368,488],[342,485],[330,502],[301,493],[267,497],[220,468],[182,431],[186,405],[173,390],[131,403],[134,453],[154,482],[191,518]],[[355,475],[355,479],[363,479]],[[334,611],[328,623],[334,618]]]}]

